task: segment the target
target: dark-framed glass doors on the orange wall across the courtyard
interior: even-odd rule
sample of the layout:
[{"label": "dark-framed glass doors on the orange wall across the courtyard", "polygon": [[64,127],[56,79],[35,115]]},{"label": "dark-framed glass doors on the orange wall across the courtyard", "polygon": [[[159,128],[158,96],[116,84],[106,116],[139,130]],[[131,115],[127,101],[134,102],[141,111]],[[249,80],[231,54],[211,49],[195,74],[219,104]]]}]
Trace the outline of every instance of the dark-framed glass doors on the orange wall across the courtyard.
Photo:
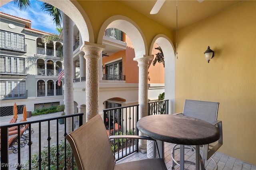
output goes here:
[{"label": "dark-framed glass doors on the orange wall across the courtyard", "polygon": [[122,60],[106,65],[106,80],[123,80]]}]

